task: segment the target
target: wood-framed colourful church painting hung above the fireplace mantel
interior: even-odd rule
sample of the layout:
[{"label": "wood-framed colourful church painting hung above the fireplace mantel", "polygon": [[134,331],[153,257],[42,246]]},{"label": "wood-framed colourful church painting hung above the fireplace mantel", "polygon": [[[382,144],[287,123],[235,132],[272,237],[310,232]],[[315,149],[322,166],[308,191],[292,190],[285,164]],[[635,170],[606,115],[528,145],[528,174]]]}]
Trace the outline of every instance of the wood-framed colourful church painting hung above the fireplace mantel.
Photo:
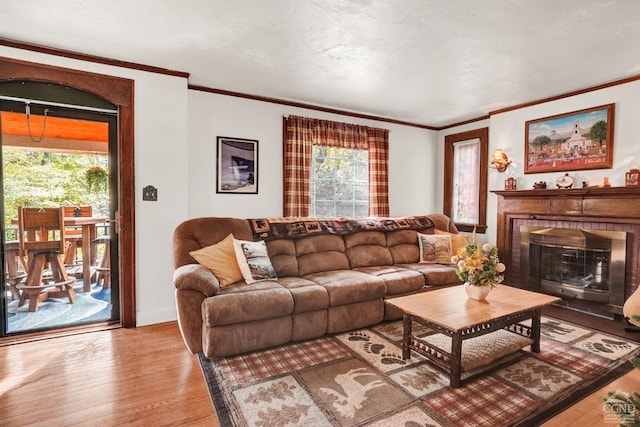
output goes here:
[{"label": "wood-framed colourful church painting hung above the fireplace mantel", "polygon": [[525,123],[524,173],[611,169],[615,104]]}]

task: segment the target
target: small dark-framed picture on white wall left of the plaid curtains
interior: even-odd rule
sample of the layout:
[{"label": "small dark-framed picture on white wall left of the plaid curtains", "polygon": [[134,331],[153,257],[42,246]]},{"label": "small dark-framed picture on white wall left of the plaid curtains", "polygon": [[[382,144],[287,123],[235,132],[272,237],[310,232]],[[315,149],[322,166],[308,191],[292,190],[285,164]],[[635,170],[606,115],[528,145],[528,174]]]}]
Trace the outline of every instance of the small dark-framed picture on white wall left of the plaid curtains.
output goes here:
[{"label": "small dark-framed picture on white wall left of the plaid curtains", "polygon": [[216,193],[258,194],[258,140],[216,139]]}]

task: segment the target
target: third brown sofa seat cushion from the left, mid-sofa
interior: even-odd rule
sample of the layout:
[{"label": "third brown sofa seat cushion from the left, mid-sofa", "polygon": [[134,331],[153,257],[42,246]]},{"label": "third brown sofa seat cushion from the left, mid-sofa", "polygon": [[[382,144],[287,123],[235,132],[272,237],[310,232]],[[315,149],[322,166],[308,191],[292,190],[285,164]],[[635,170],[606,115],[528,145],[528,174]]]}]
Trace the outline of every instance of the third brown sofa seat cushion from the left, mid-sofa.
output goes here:
[{"label": "third brown sofa seat cushion from the left, mid-sofa", "polygon": [[304,279],[327,290],[331,307],[382,298],[386,292],[384,280],[355,270],[325,271],[309,274]]}]

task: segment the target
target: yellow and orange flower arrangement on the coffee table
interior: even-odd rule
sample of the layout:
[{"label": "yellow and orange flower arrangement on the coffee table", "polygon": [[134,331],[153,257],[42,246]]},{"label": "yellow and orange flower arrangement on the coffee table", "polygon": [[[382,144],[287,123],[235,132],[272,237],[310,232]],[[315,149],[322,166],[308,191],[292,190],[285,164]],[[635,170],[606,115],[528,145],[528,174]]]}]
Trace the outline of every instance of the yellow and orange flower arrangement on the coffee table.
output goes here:
[{"label": "yellow and orange flower arrangement on the coffee table", "polygon": [[498,248],[490,243],[480,245],[473,230],[473,239],[451,257],[457,265],[456,274],[463,282],[475,286],[495,287],[504,280],[506,267],[498,259]]}]

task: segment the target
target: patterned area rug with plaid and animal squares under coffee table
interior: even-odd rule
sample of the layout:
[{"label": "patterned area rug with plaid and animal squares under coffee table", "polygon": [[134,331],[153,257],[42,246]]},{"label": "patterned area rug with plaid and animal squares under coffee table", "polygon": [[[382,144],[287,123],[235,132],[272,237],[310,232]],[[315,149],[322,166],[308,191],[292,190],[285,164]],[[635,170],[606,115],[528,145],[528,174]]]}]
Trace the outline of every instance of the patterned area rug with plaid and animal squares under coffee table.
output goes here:
[{"label": "patterned area rug with plaid and animal squares under coffee table", "polygon": [[199,359],[221,426],[496,427],[543,422],[627,372],[639,349],[636,342],[543,317],[540,353],[527,347],[453,389],[426,359],[402,360],[401,337],[397,321]]}]

